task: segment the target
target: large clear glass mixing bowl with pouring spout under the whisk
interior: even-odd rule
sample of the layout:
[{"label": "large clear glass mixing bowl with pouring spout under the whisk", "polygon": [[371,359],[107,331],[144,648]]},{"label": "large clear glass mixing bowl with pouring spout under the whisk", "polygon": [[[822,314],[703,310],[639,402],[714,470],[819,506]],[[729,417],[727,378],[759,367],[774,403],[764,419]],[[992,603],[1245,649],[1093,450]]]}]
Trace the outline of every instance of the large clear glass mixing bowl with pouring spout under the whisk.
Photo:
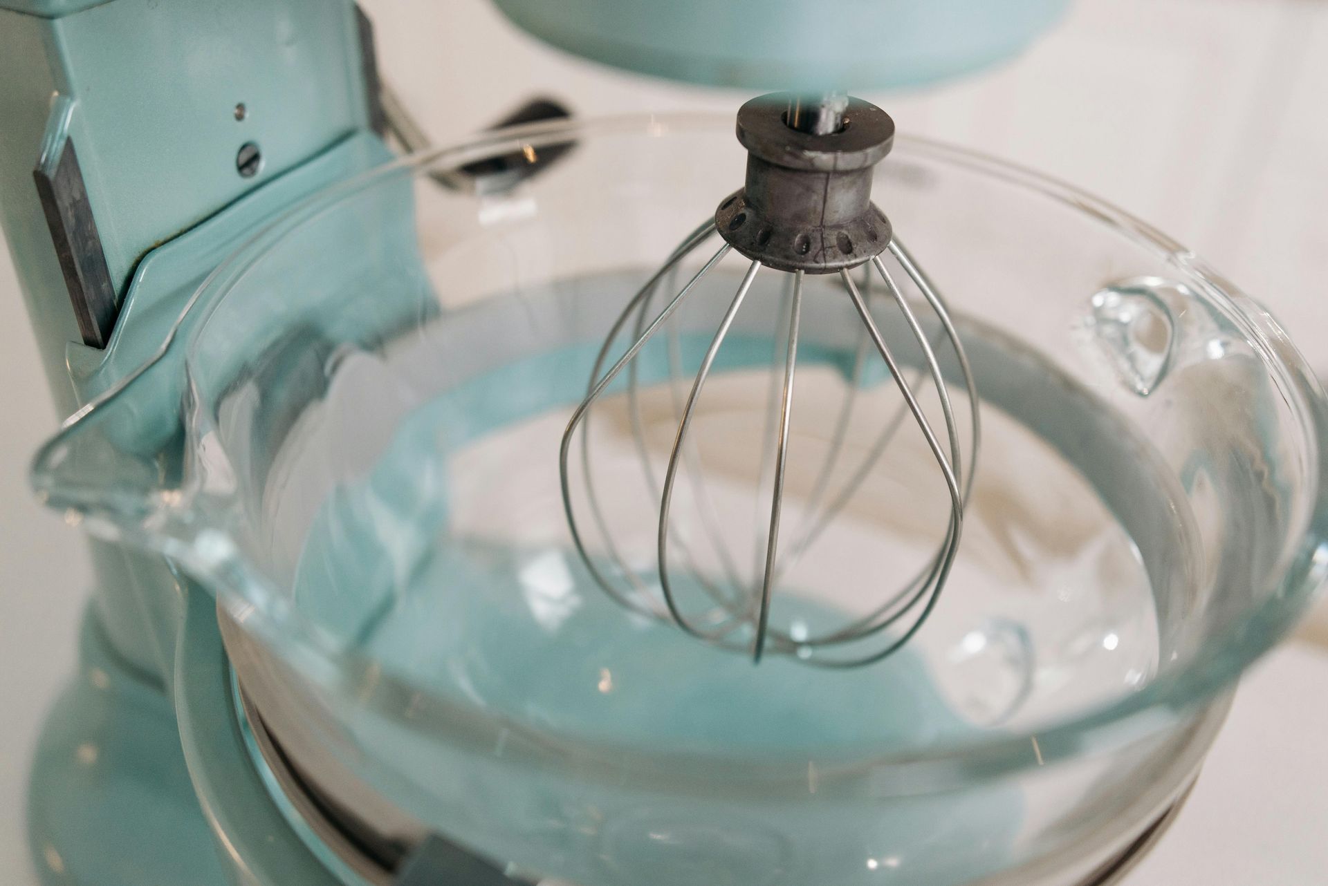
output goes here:
[{"label": "large clear glass mixing bowl with pouring spout under the whisk", "polygon": [[[874,199],[947,294],[983,416],[931,619],[834,671],[615,605],[571,546],[559,438],[610,324],[744,160],[730,119],[647,117],[347,182],[258,232],[39,455],[52,507],[216,596],[258,751],[372,834],[372,863],[343,853],[359,875],[438,833],[583,886],[1080,882],[1183,793],[1236,678],[1320,586],[1328,410],[1276,322],[1118,210],[900,139]],[[744,264],[652,345],[639,412],[616,391],[592,428],[645,580],[643,474]],[[724,501],[679,509],[697,550],[752,549],[784,280],[757,277],[703,403]],[[849,454],[898,409],[846,370],[833,284],[807,283],[794,516],[845,398]],[[947,501],[919,439],[861,476],[841,459],[846,504],[782,582],[784,627],[870,609],[930,550]]]}]

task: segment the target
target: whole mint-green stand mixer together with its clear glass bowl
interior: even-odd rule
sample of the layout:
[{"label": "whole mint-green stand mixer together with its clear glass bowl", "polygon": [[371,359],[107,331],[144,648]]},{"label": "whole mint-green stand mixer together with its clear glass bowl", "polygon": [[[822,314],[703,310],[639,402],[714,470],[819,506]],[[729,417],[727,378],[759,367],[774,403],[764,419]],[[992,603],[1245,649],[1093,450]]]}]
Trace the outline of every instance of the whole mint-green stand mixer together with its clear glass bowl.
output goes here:
[{"label": "whole mint-green stand mixer together with its clear glass bowl", "polygon": [[[659,5],[498,1],[619,68],[831,97],[1005,58],[1064,4]],[[44,882],[1114,882],[1323,584],[1328,407],[1275,321],[1088,195],[904,139],[859,183],[918,239],[963,349],[928,361],[887,328],[900,363],[863,369],[839,277],[794,259],[794,294],[716,264],[631,386],[603,386],[596,485],[636,492],[602,501],[616,546],[578,553],[558,443],[614,318],[742,183],[732,119],[522,122],[544,107],[428,149],[349,3],[0,7],[0,212],[72,414],[33,483],[97,538],[80,672],[33,765]],[[721,206],[726,240],[776,248],[740,241],[744,206]],[[861,245],[839,247],[846,275]],[[673,293],[700,268],[677,264]],[[875,310],[880,284],[845,285]],[[675,444],[680,483],[689,459],[721,464],[710,537],[752,519],[746,492],[769,505],[746,470],[765,459],[733,442],[765,439],[798,334],[790,464],[834,463],[827,439],[867,451],[879,428],[827,405],[876,403],[928,362],[983,410],[946,597],[867,667],[809,667],[798,631],[834,637],[853,610],[842,564],[882,538],[903,557],[911,520],[944,517],[910,492],[936,467],[920,443],[898,475],[841,480],[831,544],[788,566],[807,597],[770,615],[784,655],[754,666],[592,576],[655,581],[651,471],[703,365],[721,402]],[[882,523],[882,500],[908,519]],[[675,512],[703,505],[680,492]],[[705,600],[724,557],[684,541],[673,592]]]}]

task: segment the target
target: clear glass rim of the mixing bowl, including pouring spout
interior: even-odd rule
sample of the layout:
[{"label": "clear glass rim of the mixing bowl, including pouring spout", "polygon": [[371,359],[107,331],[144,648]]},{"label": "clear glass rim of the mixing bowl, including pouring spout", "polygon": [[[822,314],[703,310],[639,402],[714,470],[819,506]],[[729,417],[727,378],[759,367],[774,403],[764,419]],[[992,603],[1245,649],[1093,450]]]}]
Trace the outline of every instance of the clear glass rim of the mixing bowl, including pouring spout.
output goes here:
[{"label": "clear glass rim of the mixing bowl, including pouring spout", "polygon": [[[489,753],[493,749],[493,735],[501,731],[523,739],[509,743],[505,757],[519,757],[519,747],[525,747],[533,761],[544,759],[560,767],[571,763],[580,775],[607,773],[616,783],[624,779],[636,780],[637,776],[653,781],[651,775],[653,772],[671,791],[677,791],[684,784],[691,784],[693,788],[713,784],[716,776],[722,773],[722,781],[728,785],[746,780],[769,784],[791,779],[805,792],[807,777],[805,755],[799,755],[797,761],[791,761],[788,756],[776,760],[748,760],[724,752],[661,755],[656,751],[596,744],[582,736],[535,729],[479,706],[465,706],[437,698],[416,680],[382,672],[372,658],[337,649],[337,645],[316,625],[309,623],[288,605],[280,593],[266,588],[259,570],[242,560],[236,561],[238,553],[232,553],[231,557],[218,557],[215,537],[207,538],[210,548],[203,552],[194,544],[197,537],[190,540],[163,535],[162,527],[171,525],[171,520],[145,520],[141,503],[138,507],[126,508],[122,500],[108,503],[86,496],[61,495],[58,483],[52,481],[53,476],[58,476],[58,462],[69,451],[68,443],[97,416],[112,411],[116,401],[121,399],[135,381],[167,353],[182,346],[186,349],[187,375],[187,355],[193,341],[206,329],[216,305],[246,271],[262,261],[284,236],[316,219],[337,202],[404,174],[414,178],[440,168],[456,168],[495,154],[510,154],[523,147],[538,149],[560,139],[566,141],[568,137],[659,138],[676,133],[713,130],[718,126],[730,127],[732,118],[697,113],[637,114],[494,130],[397,158],[296,202],[248,237],[207,276],[189,297],[161,348],[147,362],[74,412],[61,426],[60,432],[39,450],[32,471],[39,496],[50,507],[72,509],[85,517],[98,517],[84,521],[88,531],[98,537],[147,548],[178,561],[193,576],[195,584],[216,597],[247,631],[287,664],[293,666],[301,678],[311,680],[320,692],[353,698],[356,704],[412,731],[436,723],[440,729],[430,735],[430,739],[449,744],[469,740],[477,744],[479,752]],[[1255,349],[1270,377],[1278,382],[1284,399],[1296,410],[1312,448],[1312,458],[1307,464],[1312,472],[1309,477],[1313,487],[1312,504],[1304,519],[1304,535],[1293,545],[1288,542],[1288,550],[1278,570],[1270,574],[1268,585],[1264,593],[1256,597],[1256,602],[1240,617],[1232,618],[1187,661],[1157,675],[1139,690],[1054,718],[1032,729],[981,737],[965,736],[903,751],[882,751],[870,743],[862,747],[837,748],[833,759],[826,760],[827,767],[833,771],[857,772],[863,767],[890,771],[907,768],[908,781],[914,785],[918,784],[916,776],[922,771],[932,771],[944,781],[960,775],[971,780],[975,773],[996,777],[1012,771],[1048,765],[1053,760],[1081,753],[1086,748],[1101,751],[1122,747],[1157,735],[1159,729],[1191,722],[1207,704],[1228,690],[1246,667],[1289,633],[1313,594],[1328,578],[1328,487],[1324,484],[1324,479],[1328,477],[1328,448],[1321,443],[1328,439],[1328,397],[1286,332],[1264,308],[1212,271],[1202,259],[1147,223],[1056,178],[985,154],[916,137],[899,137],[898,149],[908,155],[965,167],[971,172],[1003,180],[1009,186],[1036,191],[1042,198],[1096,218],[1177,268],[1204,298],[1238,322],[1242,334]],[[193,318],[194,312],[201,314],[190,334],[183,342],[177,341],[186,318]],[[186,426],[190,423],[186,419]],[[193,432],[190,436],[193,438]],[[161,501],[154,504],[158,509],[157,516],[161,516],[161,509],[182,512],[194,505],[195,491],[186,488],[183,492],[177,496],[159,496]],[[149,529],[145,523],[151,523],[153,528]],[[195,535],[203,533],[195,532]],[[410,716],[405,718],[408,707]],[[833,779],[827,779],[825,787],[833,787],[831,783]]]}]

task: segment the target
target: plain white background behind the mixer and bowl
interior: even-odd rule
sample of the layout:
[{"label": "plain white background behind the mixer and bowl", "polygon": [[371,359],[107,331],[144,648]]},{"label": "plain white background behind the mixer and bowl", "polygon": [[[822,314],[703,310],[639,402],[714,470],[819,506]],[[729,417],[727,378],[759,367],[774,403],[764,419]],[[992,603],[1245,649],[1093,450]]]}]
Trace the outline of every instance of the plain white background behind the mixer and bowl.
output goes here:
[{"label": "plain white background behind the mixer and bowl", "polygon": [[[485,0],[364,7],[386,78],[438,141],[487,126],[535,92],[586,115],[730,113],[745,98],[568,58],[514,32]],[[1328,3],[1080,0],[997,72],[869,98],[900,131],[1041,168],[1155,223],[1263,300],[1328,374]],[[89,568],[74,531],[27,489],[28,459],[57,416],[3,247],[0,309],[0,882],[27,886],[36,882],[24,848],[27,767],[73,668]],[[1190,805],[1130,886],[1328,883],[1325,698],[1320,606],[1247,679]]]}]

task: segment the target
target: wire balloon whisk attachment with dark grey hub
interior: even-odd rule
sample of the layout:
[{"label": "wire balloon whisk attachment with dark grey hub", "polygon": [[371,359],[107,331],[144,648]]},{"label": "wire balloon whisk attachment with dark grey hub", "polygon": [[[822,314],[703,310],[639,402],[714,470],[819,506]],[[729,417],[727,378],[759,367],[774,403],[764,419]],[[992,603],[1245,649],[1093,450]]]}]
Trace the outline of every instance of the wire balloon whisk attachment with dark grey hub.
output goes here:
[{"label": "wire balloon whisk attachment with dark grey hub", "polygon": [[[586,398],[572,412],[562,438],[559,464],[567,523],[578,553],[599,586],[614,600],[643,615],[673,622],[688,634],[724,649],[748,653],[756,662],[760,662],[766,653],[791,655],[821,667],[853,667],[879,662],[900,649],[922,627],[936,605],[954,565],[963,528],[964,503],[972,488],[979,443],[976,386],[942,294],[894,235],[886,215],[871,203],[875,166],[888,154],[894,141],[894,122],[890,117],[869,102],[834,93],[813,98],[772,94],[754,98],[740,109],[737,137],[748,150],[744,187],[725,198],[713,220],[706,220],[685,237],[664,265],[632,296],[599,350]],[[680,265],[716,233],[724,243],[664,304],[664,308],[652,314],[651,306],[661,284],[671,280]],[[700,361],[685,402],[680,407],[677,432],[673,436],[663,480],[656,481],[641,431],[636,362],[647,344],[660,330],[668,328],[671,318],[697,290],[699,284],[730,252],[742,255],[750,264]],[[895,275],[882,259],[886,252],[919,293],[916,305],[910,304],[911,300],[906,297]],[[784,341],[782,359],[777,361],[770,374],[772,383],[780,379],[778,389],[772,390],[769,398],[772,407],[777,405],[777,410],[772,410],[773,420],[769,423],[769,430],[773,431],[773,448],[761,456],[761,462],[765,462],[773,454],[773,483],[768,521],[764,527],[764,556],[753,572],[754,578],[746,580],[733,566],[736,557],[732,552],[721,549],[718,572],[722,577],[716,580],[704,577],[705,570],[695,568],[696,557],[691,545],[681,537],[683,533],[677,532],[673,513],[675,493],[680,471],[688,472],[689,484],[699,491],[703,512],[705,511],[708,480],[704,468],[697,464],[699,458],[695,452],[689,452],[692,446],[689,434],[701,391],[762,268],[784,272],[789,275],[790,281],[786,318],[781,321],[777,333]],[[857,268],[867,271],[861,286],[850,273]],[[805,516],[794,544],[781,550],[780,533],[785,511],[785,476],[806,275],[837,275],[838,294],[853,305],[862,328],[850,393],[831,432],[807,505],[803,508],[805,515],[810,516]],[[883,334],[872,317],[869,304],[872,290],[866,285],[871,275],[875,275],[882,284],[886,298],[895,306],[899,321],[907,328],[922,357],[911,379],[906,378],[906,366],[894,351],[890,336]],[[817,310],[818,305],[811,301],[809,309]],[[631,345],[616,361],[610,362],[614,342],[629,325]],[[960,440],[947,378],[936,354],[942,342],[956,358],[959,375],[968,393],[972,418],[967,464],[965,444]],[[875,354],[883,361],[890,379],[899,390],[902,405],[899,412],[884,423],[884,430],[849,481],[838,493],[830,495],[830,477],[845,450],[845,434],[857,399],[854,393],[862,383],[869,354]],[[778,363],[782,363],[782,371]],[[595,459],[590,435],[584,432],[584,424],[592,410],[606,398],[606,393],[624,371],[637,450],[651,491],[659,500],[653,565],[657,584],[643,580],[639,570],[632,569],[622,553],[620,545],[615,542],[614,521],[606,516],[595,483]],[[918,393],[919,382],[935,389],[944,438],[936,431],[935,416],[928,416],[923,409]],[[926,439],[927,448],[944,479],[948,496],[950,516],[934,553],[919,572],[892,589],[886,589],[879,605],[869,613],[845,617],[835,627],[815,633],[801,627],[793,630],[772,625],[772,600],[781,585],[781,578],[790,565],[817,542],[826,525],[843,511],[862,477],[886,456],[900,428],[900,419],[906,415],[914,420]],[[574,501],[570,459],[578,432],[580,432],[584,477],[582,492],[602,540],[603,557],[591,553]],[[703,513],[699,524],[700,532],[708,535],[712,541],[721,535],[720,519],[713,511]],[[688,570],[689,581],[700,585],[704,592],[706,601],[704,611],[689,613],[681,605],[677,582],[671,576],[669,566],[675,557],[683,557],[693,566]],[[875,566],[876,564],[872,564],[872,568]],[[835,655],[833,651],[835,647],[843,649],[872,638],[879,638],[879,642],[869,653],[862,653],[861,646],[854,646],[847,654]]]}]

